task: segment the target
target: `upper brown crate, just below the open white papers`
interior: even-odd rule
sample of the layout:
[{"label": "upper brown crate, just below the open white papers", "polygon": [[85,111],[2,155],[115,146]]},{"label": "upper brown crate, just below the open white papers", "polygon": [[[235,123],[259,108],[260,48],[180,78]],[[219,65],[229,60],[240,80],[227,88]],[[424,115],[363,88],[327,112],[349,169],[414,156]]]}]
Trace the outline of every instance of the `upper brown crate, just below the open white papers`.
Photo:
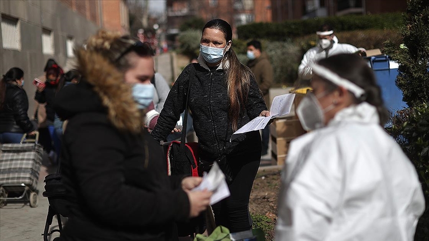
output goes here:
[{"label": "upper brown crate, just below the open white papers", "polygon": [[293,138],[306,131],[297,119],[277,119],[270,125],[270,133],[274,138]]}]

